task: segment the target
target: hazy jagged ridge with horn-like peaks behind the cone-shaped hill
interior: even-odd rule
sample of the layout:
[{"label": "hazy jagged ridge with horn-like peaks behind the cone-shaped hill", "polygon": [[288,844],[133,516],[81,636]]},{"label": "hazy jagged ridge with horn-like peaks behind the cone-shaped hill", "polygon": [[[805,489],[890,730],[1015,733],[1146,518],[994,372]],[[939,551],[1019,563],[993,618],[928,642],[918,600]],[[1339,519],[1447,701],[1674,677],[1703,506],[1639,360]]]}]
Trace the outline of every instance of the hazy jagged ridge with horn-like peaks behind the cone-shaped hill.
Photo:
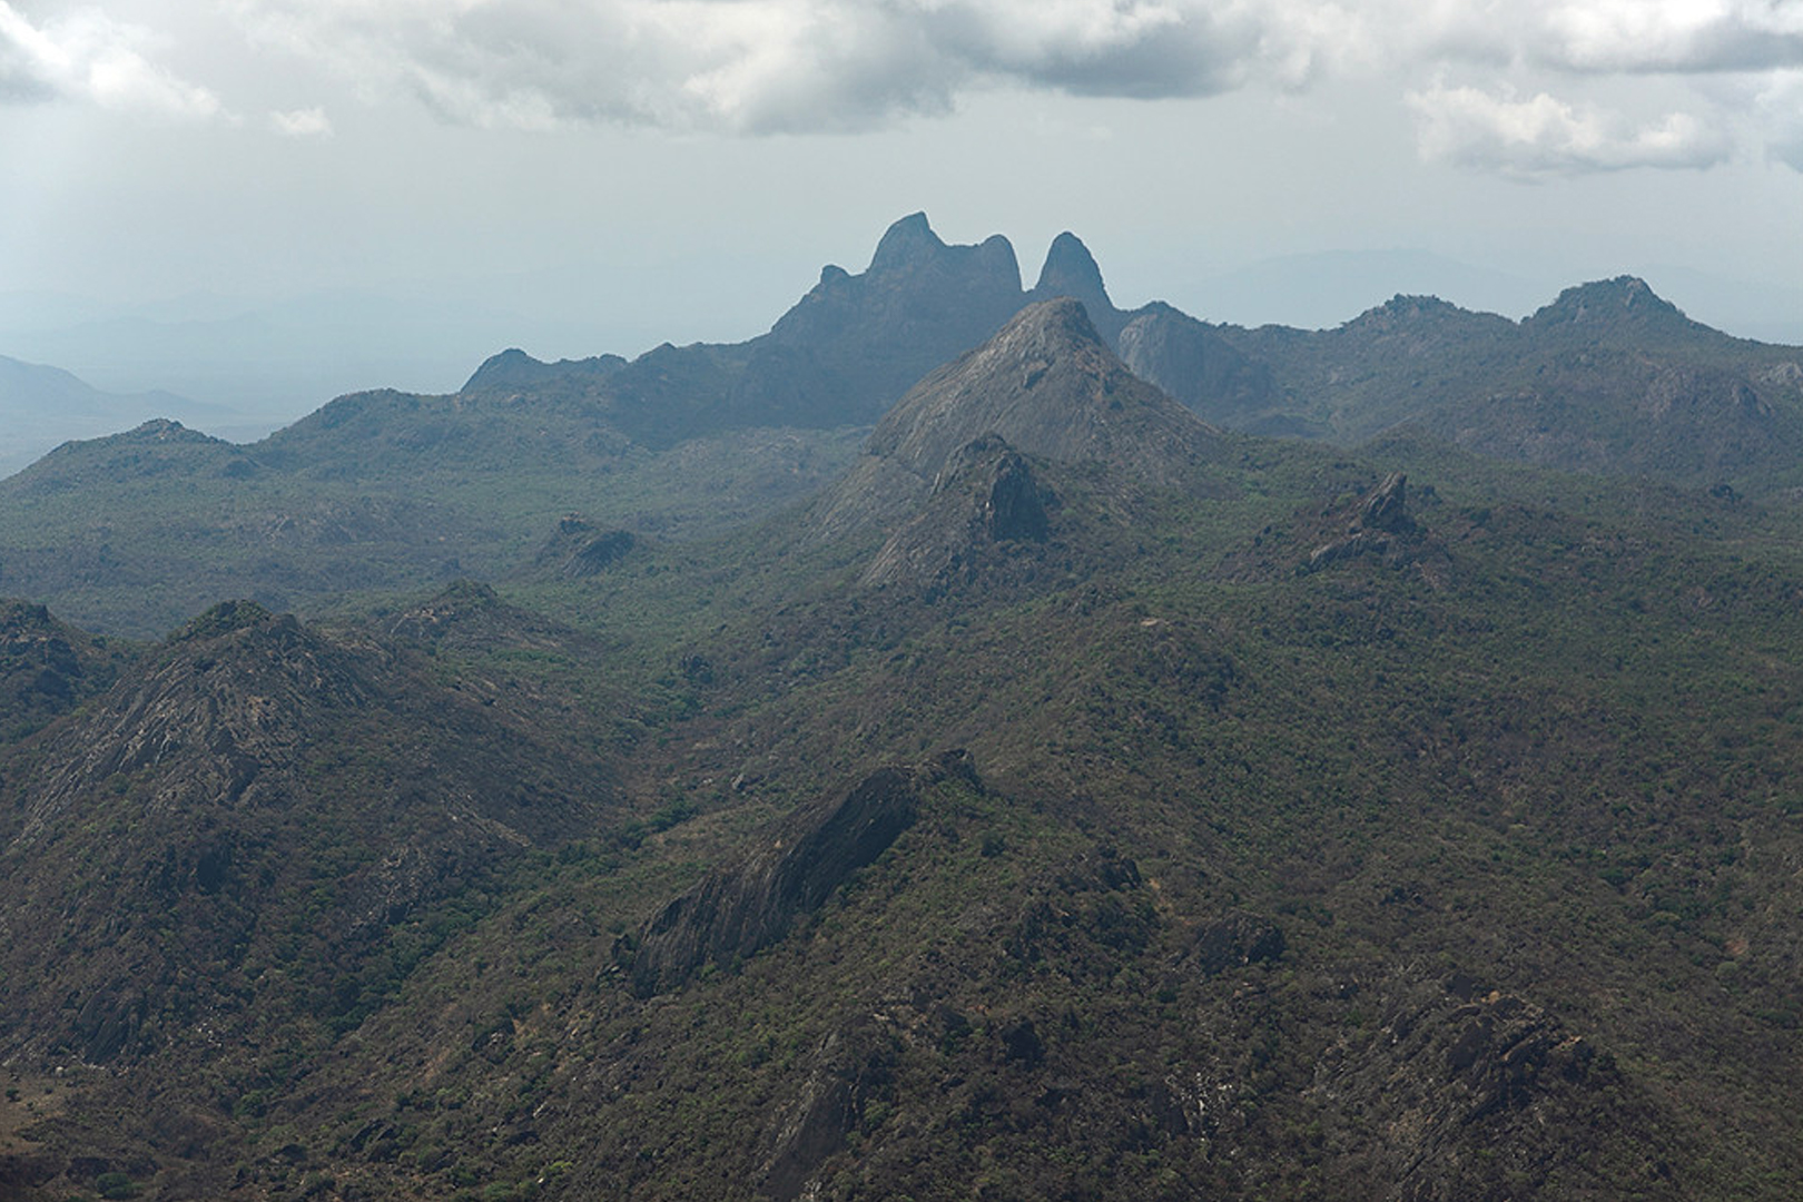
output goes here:
[{"label": "hazy jagged ridge with horn-like peaks behind the cone-shaped hill", "polygon": [[1168,306],[1123,312],[1073,234],[1033,288],[1011,247],[948,247],[896,222],[869,269],[837,267],[770,333],[541,364],[489,360],[465,395],[593,405],[649,445],[745,425],[874,420],[934,364],[1026,305],[1069,296],[1141,378],[1230,429],[1352,445],[1421,425],[1482,454],[1686,485],[1803,483],[1803,351],[1722,335],[1643,281],[1570,288],[1515,323],[1396,297],[1334,330],[1215,326]]}]

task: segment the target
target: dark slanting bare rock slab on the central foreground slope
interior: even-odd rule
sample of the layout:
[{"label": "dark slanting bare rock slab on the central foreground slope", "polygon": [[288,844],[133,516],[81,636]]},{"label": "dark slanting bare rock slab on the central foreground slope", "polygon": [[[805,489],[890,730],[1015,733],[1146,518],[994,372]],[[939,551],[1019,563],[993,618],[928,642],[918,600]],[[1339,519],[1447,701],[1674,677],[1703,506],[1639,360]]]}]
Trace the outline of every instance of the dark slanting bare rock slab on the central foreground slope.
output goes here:
[{"label": "dark slanting bare rock slab on the central foreground slope", "polygon": [[945,771],[882,768],[786,824],[750,860],[710,872],[645,923],[636,948],[620,950],[633,988],[665,993],[707,962],[732,964],[783,939],[914,824],[921,788]]}]

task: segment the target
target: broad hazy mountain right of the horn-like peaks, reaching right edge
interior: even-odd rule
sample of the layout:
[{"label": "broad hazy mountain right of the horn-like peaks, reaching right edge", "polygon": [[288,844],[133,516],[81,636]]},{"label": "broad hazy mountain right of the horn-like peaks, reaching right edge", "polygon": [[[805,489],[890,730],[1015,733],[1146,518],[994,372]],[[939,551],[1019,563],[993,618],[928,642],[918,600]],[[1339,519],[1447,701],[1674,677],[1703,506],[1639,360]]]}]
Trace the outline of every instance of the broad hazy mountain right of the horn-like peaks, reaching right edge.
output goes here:
[{"label": "broad hazy mountain right of the horn-like peaks, reaching right edge", "polygon": [[1410,423],[1547,467],[1803,483],[1803,351],[1689,321],[1641,279],[1567,288],[1520,323],[1399,296],[1336,330],[1219,333],[1269,378],[1249,402],[1197,405],[1222,425],[1358,443]]}]

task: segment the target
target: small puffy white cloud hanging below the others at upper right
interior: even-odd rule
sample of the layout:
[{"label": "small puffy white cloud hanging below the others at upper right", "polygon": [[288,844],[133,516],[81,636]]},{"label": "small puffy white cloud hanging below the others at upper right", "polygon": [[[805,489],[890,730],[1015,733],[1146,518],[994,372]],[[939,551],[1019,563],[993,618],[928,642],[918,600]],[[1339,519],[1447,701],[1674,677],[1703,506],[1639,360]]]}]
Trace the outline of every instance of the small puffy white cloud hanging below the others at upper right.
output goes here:
[{"label": "small puffy white cloud hanging below the others at upper right", "polygon": [[1408,105],[1421,119],[1424,157],[1529,178],[1626,168],[1707,168],[1733,150],[1725,133],[1689,114],[1634,123],[1545,92],[1516,99],[1469,87],[1435,87],[1412,92]]}]

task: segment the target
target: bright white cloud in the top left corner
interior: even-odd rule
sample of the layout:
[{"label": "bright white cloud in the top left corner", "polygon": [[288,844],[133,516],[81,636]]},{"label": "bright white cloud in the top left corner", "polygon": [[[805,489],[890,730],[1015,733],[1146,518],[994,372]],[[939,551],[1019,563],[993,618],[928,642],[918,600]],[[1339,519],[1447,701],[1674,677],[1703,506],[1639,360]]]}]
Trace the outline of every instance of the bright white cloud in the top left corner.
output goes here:
[{"label": "bright white cloud in the top left corner", "polygon": [[146,58],[151,41],[148,31],[99,11],[38,25],[0,0],[0,97],[85,101],[157,117],[224,115],[211,90]]}]

